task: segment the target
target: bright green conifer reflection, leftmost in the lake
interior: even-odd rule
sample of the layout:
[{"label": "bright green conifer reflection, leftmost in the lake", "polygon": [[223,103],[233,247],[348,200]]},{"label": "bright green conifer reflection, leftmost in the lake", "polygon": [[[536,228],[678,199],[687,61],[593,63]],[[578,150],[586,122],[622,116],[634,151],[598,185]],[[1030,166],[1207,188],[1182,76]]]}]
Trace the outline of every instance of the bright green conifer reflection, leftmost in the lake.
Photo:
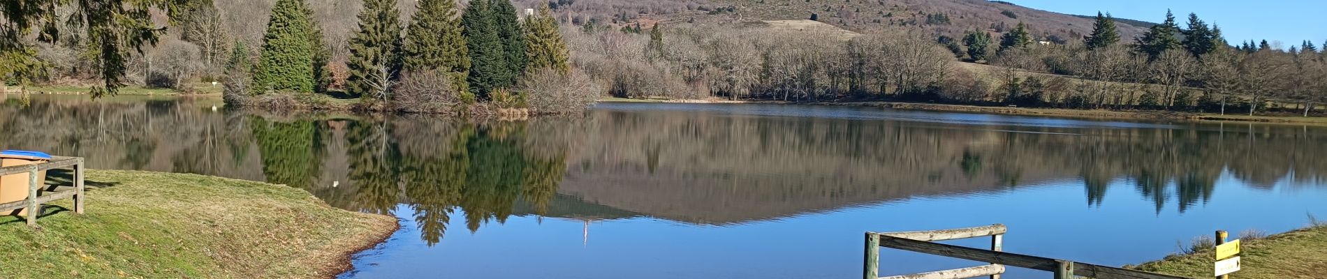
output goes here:
[{"label": "bright green conifer reflection, leftmost in the lake", "polygon": [[272,184],[308,188],[317,177],[325,152],[313,122],[268,122],[249,118],[253,139],[263,157],[263,175]]}]

